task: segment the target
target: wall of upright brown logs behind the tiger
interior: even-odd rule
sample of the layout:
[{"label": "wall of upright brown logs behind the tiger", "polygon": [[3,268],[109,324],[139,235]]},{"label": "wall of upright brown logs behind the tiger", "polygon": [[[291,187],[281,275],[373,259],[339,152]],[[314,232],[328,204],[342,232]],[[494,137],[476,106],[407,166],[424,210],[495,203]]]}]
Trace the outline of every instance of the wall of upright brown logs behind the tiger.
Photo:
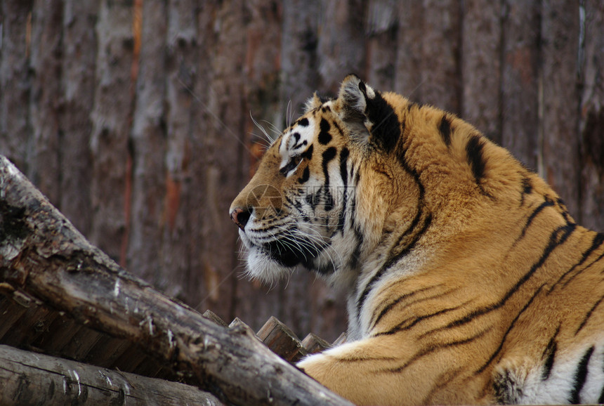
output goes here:
[{"label": "wall of upright brown logs behind the tiger", "polygon": [[253,119],[276,135],[352,72],[472,122],[604,231],[601,0],[0,0],[0,154],[162,292],[331,341],[343,296],[242,277],[228,207]]}]

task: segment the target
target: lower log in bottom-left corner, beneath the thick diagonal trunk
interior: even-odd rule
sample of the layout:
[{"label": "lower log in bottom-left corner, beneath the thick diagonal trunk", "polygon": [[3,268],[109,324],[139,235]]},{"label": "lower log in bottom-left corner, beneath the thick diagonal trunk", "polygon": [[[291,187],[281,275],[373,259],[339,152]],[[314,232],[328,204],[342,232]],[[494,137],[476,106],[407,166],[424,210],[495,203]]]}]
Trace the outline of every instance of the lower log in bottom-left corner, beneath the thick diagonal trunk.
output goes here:
[{"label": "lower log in bottom-left corner, beneath the thick diagonal trunk", "polygon": [[1,405],[208,405],[194,386],[0,346]]}]

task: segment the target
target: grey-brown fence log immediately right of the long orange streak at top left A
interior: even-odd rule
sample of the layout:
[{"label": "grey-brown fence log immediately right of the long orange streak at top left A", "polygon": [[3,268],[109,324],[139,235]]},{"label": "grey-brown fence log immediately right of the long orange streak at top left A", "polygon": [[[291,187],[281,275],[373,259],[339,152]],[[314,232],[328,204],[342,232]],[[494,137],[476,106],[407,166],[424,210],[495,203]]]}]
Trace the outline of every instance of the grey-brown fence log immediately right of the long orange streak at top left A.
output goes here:
[{"label": "grey-brown fence log immediately right of the long orange streak at top left A", "polygon": [[162,286],[166,283],[159,255],[163,234],[160,227],[162,203],[166,190],[166,1],[145,1],[141,12],[143,21],[135,107],[129,139],[132,189],[126,256],[129,266],[140,277],[155,286]]}]

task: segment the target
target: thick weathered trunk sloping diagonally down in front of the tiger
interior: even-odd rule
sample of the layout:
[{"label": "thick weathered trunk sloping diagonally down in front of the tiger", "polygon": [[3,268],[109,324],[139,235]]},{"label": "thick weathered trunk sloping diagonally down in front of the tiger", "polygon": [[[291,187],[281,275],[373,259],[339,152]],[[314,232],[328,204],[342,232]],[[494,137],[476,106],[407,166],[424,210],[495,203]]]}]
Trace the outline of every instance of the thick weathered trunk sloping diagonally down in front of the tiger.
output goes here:
[{"label": "thick weathered trunk sloping diagonally down in front of the tiger", "polygon": [[48,303],[83,325],[138,343],[224,402],[350,405],[272,353],[249,329],[216,325],[126,273],[5,157],[0,216],[5,294]]}]

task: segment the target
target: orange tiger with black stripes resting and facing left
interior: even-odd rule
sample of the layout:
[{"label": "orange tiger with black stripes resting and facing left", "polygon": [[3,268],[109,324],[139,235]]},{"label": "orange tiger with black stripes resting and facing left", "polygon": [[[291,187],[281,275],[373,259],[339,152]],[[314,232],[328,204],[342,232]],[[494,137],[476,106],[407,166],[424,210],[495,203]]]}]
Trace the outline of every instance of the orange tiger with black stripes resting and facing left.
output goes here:
[{"label": "orange tiger with black stripes resting and facing left", "polygon": [[348,341],[297,367],[357,405],[604,402],[604,235],[455,114],[349,75],[230,217],[250,277],[346,292]]}]

